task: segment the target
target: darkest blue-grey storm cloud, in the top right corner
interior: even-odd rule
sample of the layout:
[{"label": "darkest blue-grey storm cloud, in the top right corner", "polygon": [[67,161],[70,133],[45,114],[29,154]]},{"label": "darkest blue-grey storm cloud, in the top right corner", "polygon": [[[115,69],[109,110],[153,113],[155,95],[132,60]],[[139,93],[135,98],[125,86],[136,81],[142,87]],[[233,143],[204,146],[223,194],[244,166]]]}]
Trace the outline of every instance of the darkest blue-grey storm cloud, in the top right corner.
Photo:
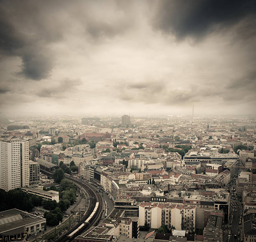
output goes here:
[{"label": "darkest blue-grey storm cloud, in the top right corner", "polygon": [[[254,23],[256,1],[254,0],[159,0],[153,18],[155,28],[174,33],[177,38],[202,37],[214,28],[230,27],[246,17]],[[246,32],[247,25],[240,26]],[[251,26],[252,27],[252,26]],[[248,34],[255,34],[248,28]]]}]

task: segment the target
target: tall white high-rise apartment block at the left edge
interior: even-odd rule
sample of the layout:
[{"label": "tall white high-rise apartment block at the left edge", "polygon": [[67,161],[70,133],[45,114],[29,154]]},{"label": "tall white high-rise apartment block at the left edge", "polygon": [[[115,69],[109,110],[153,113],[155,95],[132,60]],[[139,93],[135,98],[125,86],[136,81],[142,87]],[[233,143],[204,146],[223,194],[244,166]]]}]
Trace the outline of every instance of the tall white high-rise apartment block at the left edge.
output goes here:
[{"label": "tall white high-rise apartment block at the left edge", "polygon": [[0,189],[29,185],[29,141],[0,141]]}]

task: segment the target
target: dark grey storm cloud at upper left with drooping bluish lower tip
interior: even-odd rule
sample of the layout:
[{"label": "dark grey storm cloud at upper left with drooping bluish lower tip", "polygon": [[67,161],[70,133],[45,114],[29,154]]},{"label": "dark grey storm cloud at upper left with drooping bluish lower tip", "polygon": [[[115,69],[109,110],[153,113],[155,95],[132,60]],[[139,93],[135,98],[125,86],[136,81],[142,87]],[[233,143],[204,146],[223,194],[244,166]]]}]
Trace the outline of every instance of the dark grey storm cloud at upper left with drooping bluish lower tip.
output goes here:
[{"label": "dark grey storm cloud at upper left with drooping bluish lower tip", "polygon": [[[31,24],[33,25],[33,15],[24,12],[26,3],[12,2],[11,4],[5,1],[1,3],[1,55],[20,57],[22,59],[21,74],[26,78],[34,80],[46,78],[52,68],[51,58],[47,56],[46,48],[40,43],[40,36],[36,32],[28,32]],[[31,7],[33,8],[33,5]],[[22,23],[24,25],[20,27]]]}]

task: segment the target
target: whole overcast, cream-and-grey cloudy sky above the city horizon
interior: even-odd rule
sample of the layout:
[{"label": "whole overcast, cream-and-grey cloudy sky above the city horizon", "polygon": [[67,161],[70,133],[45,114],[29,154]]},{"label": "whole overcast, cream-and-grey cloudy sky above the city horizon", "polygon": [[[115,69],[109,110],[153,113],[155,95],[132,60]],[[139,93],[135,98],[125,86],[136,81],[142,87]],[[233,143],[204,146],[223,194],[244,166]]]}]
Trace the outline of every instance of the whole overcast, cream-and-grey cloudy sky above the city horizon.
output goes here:
[{"label": "whole overcast, cream-and-grey cloudy sky above the city horizon", "polygon": [[0,2],[3,113],[255,114],[247,0]]}]

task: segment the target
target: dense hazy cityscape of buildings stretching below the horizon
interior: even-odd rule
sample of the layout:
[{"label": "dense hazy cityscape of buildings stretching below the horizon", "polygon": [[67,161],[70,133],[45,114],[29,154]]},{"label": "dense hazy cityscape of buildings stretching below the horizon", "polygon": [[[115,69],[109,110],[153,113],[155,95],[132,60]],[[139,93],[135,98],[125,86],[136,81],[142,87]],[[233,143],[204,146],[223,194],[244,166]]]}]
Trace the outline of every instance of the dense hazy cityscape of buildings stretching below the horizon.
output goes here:
[{"label": "dense hazy cityscape of buildings stretching below the horizon", "polygon": [[5,241],[254,236],[255,117],[16,117],[0,132]]}]

